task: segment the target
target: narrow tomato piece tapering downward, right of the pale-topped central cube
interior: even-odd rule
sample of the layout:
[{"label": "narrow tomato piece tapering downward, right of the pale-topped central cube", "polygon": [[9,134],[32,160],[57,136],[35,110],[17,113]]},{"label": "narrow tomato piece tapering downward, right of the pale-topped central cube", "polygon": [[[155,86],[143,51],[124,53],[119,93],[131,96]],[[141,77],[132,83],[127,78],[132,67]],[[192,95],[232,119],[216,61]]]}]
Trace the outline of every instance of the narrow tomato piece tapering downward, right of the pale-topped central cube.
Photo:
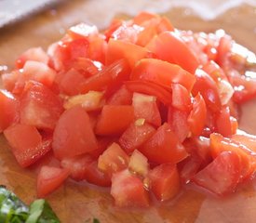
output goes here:
[{"label": "narrow tomato piece tapering downward, right of the pale-topped central cube", "polygon": [[168,107],[168,124],[171,126],[180,142],[189,135],[188,116],[189,112],[177,110],[172,106]]}]

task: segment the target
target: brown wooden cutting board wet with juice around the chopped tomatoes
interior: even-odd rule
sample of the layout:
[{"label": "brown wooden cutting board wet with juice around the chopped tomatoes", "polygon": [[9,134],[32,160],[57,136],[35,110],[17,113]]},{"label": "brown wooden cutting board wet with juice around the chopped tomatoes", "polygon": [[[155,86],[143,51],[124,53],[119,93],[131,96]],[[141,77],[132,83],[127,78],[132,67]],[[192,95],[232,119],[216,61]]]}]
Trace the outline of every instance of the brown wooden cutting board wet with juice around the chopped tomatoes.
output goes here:
[{"label": "brown wooden cutting board wet with juice around the chopped tomatoes", "polygon": [[[7,65],[13,66],[21,52],[32,46],[47,46],[61,38],[64,31],[80,21],[94,23],[101,28],[106,26],[117,10],[107,10],[118,6],[92,8],[93,1],[67,1],[65,4],[24,20],[12,27],[0,30],[0,72]],[[101,1],[102,2],[102,1]],[[111,1],[116,2],[116,1]],[[138,0],[138,6],[141,6]],[[153,2],[153,1],[149,1]],[[110,4],[105,1],[105,4]],[[106,8],[106,9],[105,9]],[[166,8],[165,15],[179,29],[213,32],[224,29],[236,41],[256,52],[256,8],[241,6],[226,11],[215,20],[202,20],[190,9]],[[115,16],[128,18],[124,12]],[[0,108],[1,109],[1,108]],[[240,126],[256,134],[256,102],[252,101],[242,108]],[[43,162],[50,162],[45,159]],[[21,169],[10,153],[3,136],[0,137],[0,184],[14,190],[26,203],[35,199],[36,166]],[[107,223],[164,223],[164,222],[247,222],[256,220],[256,181],[239,189],[226,198],[209,197],[190,187],[169,203],[153,204],[147,209],[118,209],[108,190],[77,184],[68,180],[60,190],[47,197],[63,223],[92,222],[97,217]]]}]

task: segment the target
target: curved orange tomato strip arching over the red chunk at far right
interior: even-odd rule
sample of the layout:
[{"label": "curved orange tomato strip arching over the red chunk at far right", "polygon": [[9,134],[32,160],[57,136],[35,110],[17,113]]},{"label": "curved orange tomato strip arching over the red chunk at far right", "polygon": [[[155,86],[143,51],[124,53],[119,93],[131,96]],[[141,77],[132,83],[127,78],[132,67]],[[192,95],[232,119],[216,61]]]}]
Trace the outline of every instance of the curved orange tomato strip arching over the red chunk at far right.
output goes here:
[{"label": "curved orange tomato strip arching over the red chunk at far right", "polygon": [[236,142],[233,138],[223,138],[222,135],[214,133],[210,135],[210,152],[213,158],[222,151],[234,151],[239,156],[241,173],[240,180],[245,180],[255,172],[256,153],[250,151],[247,145]]}]

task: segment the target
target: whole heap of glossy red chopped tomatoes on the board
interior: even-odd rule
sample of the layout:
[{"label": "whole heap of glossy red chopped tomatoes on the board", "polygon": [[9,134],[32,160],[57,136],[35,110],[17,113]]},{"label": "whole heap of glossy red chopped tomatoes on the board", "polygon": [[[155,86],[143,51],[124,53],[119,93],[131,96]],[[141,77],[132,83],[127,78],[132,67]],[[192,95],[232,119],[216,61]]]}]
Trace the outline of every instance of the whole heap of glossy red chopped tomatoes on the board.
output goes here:
[{"label": "whole heap of glossy red chopped tomatoes on the board", "polygon": [[224,195],[255,173],[256,137],[237,125],[237,104],[256,96],[253,59],[223,31],[147,12],[104,33],[81,23],[2,75],[0,132],[21,167],[42,163],[38,197],[68,177],[110,187],[121,207],[190,182]]}]

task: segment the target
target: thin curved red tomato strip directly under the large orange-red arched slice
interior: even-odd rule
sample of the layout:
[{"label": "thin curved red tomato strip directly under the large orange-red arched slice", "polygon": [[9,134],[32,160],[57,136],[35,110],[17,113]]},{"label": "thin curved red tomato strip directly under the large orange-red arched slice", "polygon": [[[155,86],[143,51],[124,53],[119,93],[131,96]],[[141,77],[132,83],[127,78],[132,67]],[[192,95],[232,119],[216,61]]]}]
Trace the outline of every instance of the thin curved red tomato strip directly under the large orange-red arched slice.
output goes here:
[{"label": "thin curved red tomato strip directly under the large orange-red arched slice", "polygon": [[155,96],[165,105],[171,103],[171,93],[163,86],[148,81],[128,81],[125,84],[130,91]]}]

